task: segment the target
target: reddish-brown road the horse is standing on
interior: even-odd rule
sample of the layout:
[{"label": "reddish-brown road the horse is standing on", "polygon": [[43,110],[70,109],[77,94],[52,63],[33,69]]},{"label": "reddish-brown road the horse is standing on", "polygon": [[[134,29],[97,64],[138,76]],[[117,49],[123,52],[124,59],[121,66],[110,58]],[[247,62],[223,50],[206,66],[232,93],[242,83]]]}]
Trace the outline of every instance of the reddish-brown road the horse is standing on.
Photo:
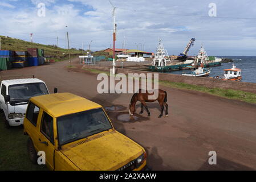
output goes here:
[{"label": "reddish-brown road the horse is standing on", "polygon": [[[53,92],[71,92],[103,106],[120,105],[122,111],[108,114],[121,133],[136,140],[148,152],[155,170],[247,170],[256,169],[256,106],[200,92],[165,88],[169,117],[157,118],[158,103],[148,104],[138,121],[121,122],[128,114],[132,94],[98,94],[96,75],[68,71],[67,61],[3,71],[0,75],[36,75]],[[140,104],[137,103],[136,113]],[[217,152],[217,165],[209,165],[209,151]]]}]

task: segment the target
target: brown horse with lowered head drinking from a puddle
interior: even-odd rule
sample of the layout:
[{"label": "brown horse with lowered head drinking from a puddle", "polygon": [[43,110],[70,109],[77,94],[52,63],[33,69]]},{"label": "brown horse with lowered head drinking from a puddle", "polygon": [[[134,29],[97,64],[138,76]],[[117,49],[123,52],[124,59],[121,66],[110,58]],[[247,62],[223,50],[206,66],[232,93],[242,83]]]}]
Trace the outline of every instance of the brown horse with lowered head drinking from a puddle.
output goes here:
[{"label": "brown horse with lowered head drinking from a puddle", "polygon": [[143,107],[146,108],[148,112],[148,116],[150,116],[150,112],[148,110],[148,106],[146,105],[146,102],[155,102],[158,101],[161,106],[161,114],[159,115],[159,118],[162,117],[162,113],[164,112],[164,106],[165,106],[165,115],[168,117],[168,104],[167,102],[167,93],[164,90],[159,89],[159,96],[156,100],[148,100],[148,96],[153,96],[153,93],[142,93],[141,89],[139,90],[139,93],[135,93],[132,96],[131,104],[129,105],[129,113],[130,115],[133,115],[135,112],[135,105],[137,101],[141,102],[141,111],[140,114],[143,113]]}]

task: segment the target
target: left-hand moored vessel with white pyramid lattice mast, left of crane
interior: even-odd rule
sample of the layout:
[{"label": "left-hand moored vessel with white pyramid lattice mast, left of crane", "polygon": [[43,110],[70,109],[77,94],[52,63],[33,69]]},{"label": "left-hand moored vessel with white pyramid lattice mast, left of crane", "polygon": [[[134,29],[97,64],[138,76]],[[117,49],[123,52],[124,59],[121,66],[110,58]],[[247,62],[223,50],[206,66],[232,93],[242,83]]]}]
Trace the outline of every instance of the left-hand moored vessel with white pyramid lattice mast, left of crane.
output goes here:
[{"label": "left-hand moored vessel with white pyramid lattice mast, left of crane", "polygon": [[172,64],[172,61],[170,61],[170,57],[168,55],[168,52],[166,49],[164,49],[164,46],[161,42],[161,39],[159,40],[159,45],[157,46],[155,57],[149,66],[149,69],[151,71],[157,71],[157,72],[168,72],[173,70],[181,70],[187,67],[188,65],[191,65],[193,61],[188,60],[184,63],[178,63],[178,64]]}]

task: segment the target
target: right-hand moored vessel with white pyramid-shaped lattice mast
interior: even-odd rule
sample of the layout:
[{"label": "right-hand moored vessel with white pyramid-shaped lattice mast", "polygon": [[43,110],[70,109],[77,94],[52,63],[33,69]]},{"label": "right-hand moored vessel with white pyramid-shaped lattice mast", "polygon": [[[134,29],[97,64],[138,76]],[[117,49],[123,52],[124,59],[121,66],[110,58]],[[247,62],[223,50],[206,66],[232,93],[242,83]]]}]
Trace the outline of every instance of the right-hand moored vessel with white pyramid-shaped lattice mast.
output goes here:
[{"label": "right-hand moored vessel with white pyramid-shaped lattice mast", "polygon": [[[212,58],[213,56],[211,56]],[[214,57],[214,59],[209,59],[204,46],[201,44],[201,48],[198,52],[198,55],[194,61],[194,64],[198,65],[198,64],[204,64],[204,67],[216,67],[216,66],[220,66],[221,65],[221,61],[222,59],[218,58],[218,57]]]}]

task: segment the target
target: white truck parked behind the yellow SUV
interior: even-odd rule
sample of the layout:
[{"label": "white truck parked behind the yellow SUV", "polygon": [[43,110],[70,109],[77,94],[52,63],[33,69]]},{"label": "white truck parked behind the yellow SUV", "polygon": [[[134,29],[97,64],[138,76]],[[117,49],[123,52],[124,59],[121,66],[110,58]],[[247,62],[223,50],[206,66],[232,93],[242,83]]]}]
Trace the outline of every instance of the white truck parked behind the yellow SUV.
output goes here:
[{"label": "white truck parked behind the yellow SUV", "polygon": [[23,125],[31,97],[49,94],[46,84],[37,78],[3,80],[0,90],[0,109],[7,128]]}]

